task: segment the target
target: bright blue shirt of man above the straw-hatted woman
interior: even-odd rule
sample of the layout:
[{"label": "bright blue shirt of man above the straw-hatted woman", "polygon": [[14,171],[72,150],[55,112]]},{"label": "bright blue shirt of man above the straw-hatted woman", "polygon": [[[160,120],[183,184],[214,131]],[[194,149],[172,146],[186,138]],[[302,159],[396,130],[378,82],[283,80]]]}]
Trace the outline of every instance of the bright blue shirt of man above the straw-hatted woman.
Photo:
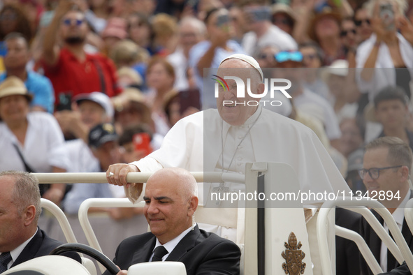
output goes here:
[{"label": "bright blue shirt of man above the straw-hatted woman", "polygon": [[[0,82],[5,80],[6,73],[0,75]],[[41,106],[50,114],[53,113],[55,105],[55,91],[53,90],[52,82],[43,75],[27,70],[27,79],[24,82],[30,94],[33,94],[31,106]]]}]

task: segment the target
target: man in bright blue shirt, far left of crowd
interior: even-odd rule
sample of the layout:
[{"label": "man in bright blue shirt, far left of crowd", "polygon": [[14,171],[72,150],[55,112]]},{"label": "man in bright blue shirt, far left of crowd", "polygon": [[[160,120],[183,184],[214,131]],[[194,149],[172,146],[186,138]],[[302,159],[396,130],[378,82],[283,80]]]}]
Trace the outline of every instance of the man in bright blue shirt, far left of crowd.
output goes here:
[{"label": "man in bright blue shirt, far left of crowd", "polygon": [[4,57],[6,73],[0,75],[0,82],[11,75],[19,77],[24,82],[30,94],[33,94],[31,110],[53,112],[55,93],[52,83],[47,77],[27,70],[30,60],[29,45],[26,38],[19,33],[10,33],[5,38],[7,54]]}]

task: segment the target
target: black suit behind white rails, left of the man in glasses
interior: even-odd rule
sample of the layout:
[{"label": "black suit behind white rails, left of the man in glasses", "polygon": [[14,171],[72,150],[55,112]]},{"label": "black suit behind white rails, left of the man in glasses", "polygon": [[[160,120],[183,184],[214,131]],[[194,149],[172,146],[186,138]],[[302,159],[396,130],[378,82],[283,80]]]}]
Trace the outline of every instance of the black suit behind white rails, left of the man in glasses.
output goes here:
[{"label": "black suit behind white rails, left of the man in glasses", "polygon": [[[337,207],[335,209],[335,224],[342,228],[360,233],[361,215],[354,211]],[[335,274],[359,275],[360,251],[354,241],[335,236]]]}]

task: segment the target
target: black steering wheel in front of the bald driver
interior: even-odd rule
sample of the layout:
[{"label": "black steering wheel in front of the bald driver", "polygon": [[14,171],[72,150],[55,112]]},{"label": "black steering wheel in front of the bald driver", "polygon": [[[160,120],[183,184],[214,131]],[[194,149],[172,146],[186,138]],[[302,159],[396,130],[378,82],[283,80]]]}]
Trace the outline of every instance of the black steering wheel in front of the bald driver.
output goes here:
[{"label": "black steering wheel in front of the bald driver", "polygon": [[86,244],[61,244],[61,246],[57,246],[57,248],[53,249],[49,255],[61,255],[61,253],[65,252],[83,253],[100,262],[111,274],[117,274],[120,272],[119,267],[117,267],[108,257],[106,257],[106,255],[95,248],[87,246]]}]

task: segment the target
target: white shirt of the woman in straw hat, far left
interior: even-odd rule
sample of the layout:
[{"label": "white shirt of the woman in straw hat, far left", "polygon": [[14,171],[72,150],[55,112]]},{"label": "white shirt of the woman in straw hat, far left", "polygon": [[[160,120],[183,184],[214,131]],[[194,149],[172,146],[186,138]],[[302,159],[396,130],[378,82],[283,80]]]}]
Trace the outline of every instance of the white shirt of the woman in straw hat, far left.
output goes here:
[{"label": "white shirt of the woman in straw hat, far left", "polygon": [[68,170],[68,152],[55,117],[46,112],[29,112],[27,120],[24,145],[3,121],[0,122],[0,170],[26,171],[13,144],[17,144],[26,163],[36,172],[52,172],[52,166]]}]

